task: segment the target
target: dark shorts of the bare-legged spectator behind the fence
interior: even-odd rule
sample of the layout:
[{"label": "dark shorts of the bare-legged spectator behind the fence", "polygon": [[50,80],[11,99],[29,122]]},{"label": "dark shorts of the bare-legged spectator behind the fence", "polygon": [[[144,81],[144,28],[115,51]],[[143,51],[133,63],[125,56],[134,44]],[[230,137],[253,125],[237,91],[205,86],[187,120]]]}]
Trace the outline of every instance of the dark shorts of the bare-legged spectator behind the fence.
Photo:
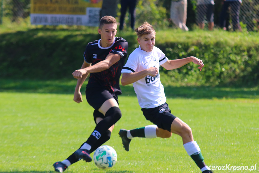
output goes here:
[{"label": "dark shorts of the bare-legged spectator behind the fence", "polygon": [[212,4],[201,4],[197,5],[197,22],[204,23],[204,18],[208,22],[214,21],[214,5]]}]

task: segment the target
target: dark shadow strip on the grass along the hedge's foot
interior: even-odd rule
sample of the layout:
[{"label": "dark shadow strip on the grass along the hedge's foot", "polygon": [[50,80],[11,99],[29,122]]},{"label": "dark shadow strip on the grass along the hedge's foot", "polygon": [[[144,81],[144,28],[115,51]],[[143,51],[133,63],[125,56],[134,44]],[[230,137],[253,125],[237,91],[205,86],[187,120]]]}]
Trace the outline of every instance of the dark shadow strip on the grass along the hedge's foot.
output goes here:
[{"label": "dark shadow strip on the grass along the hedge's foot", "polygon": [[[84,94],[86,83],[81,88]],[[74,94],[76,79],[64,80],[12,80],[0,79],[0,92]],[[123,96],[136,96],[132,85],[121,86]],[[249,98],[259,99],[259,88],[248,87],[164,87],[168,98]],[[1,172],[0,172],[1,173]]]}]

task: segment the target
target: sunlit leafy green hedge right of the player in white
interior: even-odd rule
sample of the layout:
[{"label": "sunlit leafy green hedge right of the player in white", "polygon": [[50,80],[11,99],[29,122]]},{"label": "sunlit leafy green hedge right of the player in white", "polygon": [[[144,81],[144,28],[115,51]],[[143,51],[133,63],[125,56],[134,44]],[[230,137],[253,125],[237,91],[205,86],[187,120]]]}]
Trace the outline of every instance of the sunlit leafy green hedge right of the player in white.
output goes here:
[{"label": "sunlit leafy green hedge right of the player in white", "polygon": [[170,81],[181,85],[255,85],[259,80],[258,46],[228,47],[223,42],[196,45],[167,43],[165,54],[173,59],[195,56],[203,60],[200,72],[197,65],[189,63],[177,70],[163,70]]}]

